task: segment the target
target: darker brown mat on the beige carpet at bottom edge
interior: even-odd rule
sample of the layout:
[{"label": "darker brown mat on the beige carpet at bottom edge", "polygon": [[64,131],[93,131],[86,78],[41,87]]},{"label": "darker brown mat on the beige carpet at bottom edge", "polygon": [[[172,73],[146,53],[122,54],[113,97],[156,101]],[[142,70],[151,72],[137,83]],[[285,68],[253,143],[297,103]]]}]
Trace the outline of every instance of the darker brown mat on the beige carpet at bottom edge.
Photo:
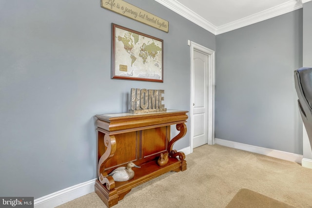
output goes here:
[{"label": "darker brown mat on the beige carpet at bottom edge", "polygon": [[294,208],[249,189],[240,189],[226,208]]}]

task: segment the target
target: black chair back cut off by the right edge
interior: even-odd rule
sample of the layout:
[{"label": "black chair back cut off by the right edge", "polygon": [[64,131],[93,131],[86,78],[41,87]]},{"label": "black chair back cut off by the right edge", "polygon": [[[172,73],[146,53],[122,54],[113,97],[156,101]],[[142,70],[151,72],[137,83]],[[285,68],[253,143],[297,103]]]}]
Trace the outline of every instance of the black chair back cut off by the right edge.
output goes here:
[{"label": "black chair back cut off by the right edge", "polygon": [[298,107],[307,130],[312,149],[312,68],[302,67],[294,71],[294,85],[298,95]]}]

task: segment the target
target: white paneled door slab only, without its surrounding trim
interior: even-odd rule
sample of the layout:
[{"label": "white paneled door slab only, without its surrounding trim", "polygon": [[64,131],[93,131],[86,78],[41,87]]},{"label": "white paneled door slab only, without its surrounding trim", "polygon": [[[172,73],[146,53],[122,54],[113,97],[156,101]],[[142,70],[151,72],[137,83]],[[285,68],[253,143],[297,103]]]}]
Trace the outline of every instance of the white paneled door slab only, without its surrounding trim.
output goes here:
[{"label": "white paneled door slab only, without its surrounding trim", "polygon": [[208,143],[208,55],[194,51],[193,147]]}]

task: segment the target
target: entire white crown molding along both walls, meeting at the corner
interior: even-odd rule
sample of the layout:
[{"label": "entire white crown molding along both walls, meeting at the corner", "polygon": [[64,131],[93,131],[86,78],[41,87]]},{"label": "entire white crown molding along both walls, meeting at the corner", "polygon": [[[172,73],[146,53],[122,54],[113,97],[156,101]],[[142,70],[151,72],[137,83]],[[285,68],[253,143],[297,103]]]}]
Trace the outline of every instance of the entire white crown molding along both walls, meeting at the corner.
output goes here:
[{"label": "entire white crown molding along both walls, meeting at the corner", "polygon": [[257,23],[259,21],[277,17],[279,15],[283,15],[288,12],[292,12],[294,10],[300,9],[302,8],[302,3],[305,3],[311,0],[290,0],[283,4],[274,6],[270,9],[248,16],[246,18],[238,19],[238,20],[235,20],[233,22],[230,22],[230,23],[218,26],[218,27],[216,27],[214,24],[210,23],[206,19],[203,19],[202,17],[197,15],[195,12],[185,7],[184,5],[180,4],[176,0],[155,0],[155,1],[171,9],[172,11],[181,15],[182,17],[194,22],[198,26],[213,33],[214,35],[219,35],[222,33],[226,33],[226,32],[247,26],[247,25]]}]

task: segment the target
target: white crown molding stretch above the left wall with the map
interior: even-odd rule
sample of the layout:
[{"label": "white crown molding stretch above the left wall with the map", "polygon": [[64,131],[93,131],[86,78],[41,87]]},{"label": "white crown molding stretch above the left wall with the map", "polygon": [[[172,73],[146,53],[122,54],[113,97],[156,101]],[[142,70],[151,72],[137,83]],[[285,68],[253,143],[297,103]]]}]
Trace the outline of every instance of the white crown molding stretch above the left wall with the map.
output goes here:
[{"label": "white crown molding stretch above the left wall with the map", "polygon": [[176,0],[155,0],[155,1],[167,7],[168,9],[171,9],[172,11],[181,15],[182,17],[194,22],[195,24],[204,28],[205,30],[208,30],[209,32],[213,34],[216,34],[217,28],[215,25],[213,25],[206,19],[203,19],[202,17],[197,15],[195,12],[185,7],[181,3],[177,2]]}]

